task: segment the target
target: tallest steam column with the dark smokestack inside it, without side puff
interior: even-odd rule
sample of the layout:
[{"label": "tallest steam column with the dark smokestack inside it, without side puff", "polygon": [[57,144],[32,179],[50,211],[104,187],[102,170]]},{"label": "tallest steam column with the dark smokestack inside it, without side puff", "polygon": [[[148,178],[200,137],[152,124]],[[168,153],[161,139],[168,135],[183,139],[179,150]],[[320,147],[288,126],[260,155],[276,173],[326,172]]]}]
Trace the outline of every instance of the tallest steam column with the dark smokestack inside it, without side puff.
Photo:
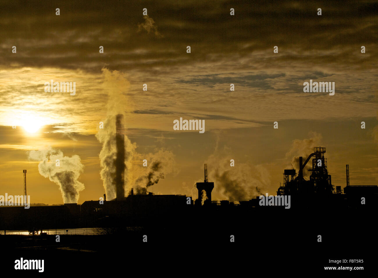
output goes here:
[{"label": "tallest steam column with the dark smokestack inside it, without side puff", "polygon": [[[124,186],[130,180],[130,169],[135,144],[125,135],[125,92],[130,83],[119,71],[102,69],[104,90],[108,94],[107,118],[104,128],[99,129],[96,138],[102,143],[99,154],[101,179],[108,200],[124,196]],[[118,196],[117,196],[118,193]]]}]

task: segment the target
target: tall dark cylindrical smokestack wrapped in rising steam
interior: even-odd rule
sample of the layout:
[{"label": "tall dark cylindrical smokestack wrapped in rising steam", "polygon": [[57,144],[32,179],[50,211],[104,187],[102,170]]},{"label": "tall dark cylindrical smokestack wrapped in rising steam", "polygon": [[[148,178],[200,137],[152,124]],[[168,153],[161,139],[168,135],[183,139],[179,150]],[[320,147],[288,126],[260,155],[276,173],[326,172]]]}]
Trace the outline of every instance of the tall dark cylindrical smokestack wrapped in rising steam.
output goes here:
[{"label": "tall dark cylindrical smokestack wrapped in rising steam", "polygon": [[125,173],[125,138],[123,134],[123,115],[116,116],[116,199],[122,200],[125,197],[124,173]]}]

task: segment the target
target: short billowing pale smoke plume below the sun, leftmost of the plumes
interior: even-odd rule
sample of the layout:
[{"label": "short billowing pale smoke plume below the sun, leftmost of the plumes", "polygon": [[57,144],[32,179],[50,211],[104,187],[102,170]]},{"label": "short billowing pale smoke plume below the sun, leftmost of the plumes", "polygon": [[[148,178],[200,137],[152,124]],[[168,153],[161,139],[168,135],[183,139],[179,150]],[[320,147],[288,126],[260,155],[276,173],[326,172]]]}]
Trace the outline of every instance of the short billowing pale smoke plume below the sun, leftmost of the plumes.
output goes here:
[{"label": "short billowing pale smoke plume below the sun, leftmost of the plumes", "polygon": [[[85,188],[77,180],[84,169],[79,155],[67,157],[62,151],[50,147],[46,150],[30,151],[29,159],[41,161],[38,165],[39,173],[59,185],[64,203],[77,203],[79,192]],[[57,159],[60,166],[56,166]]]}]

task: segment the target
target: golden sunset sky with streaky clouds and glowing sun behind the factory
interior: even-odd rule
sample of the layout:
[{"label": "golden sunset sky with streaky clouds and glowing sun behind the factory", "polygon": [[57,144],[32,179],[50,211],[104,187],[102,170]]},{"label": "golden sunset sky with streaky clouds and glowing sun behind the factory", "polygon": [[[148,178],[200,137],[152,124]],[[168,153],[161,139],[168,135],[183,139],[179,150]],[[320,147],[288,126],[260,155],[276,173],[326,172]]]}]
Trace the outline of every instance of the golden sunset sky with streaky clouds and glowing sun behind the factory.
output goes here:
[{"label": "golden sunset sky with streaky clouds and glowing sun behind the factory", "polygon": [[[376,185],[377,11],[374,1],[0,2],[0,195],[23,194],[27,169],[32,203],[63,203],[29,156],[53,148],[84,165],[78,202],[98,200],[110,98],[134,148],[126,188],[155,159],[155,194],[196,199],[207,163],[213,200],[248,200],[256,186],[276,195],[283,169],[316,146],[334,186],[346,185],[345,164],[351,185]],[[51,79],[76,82],[76,95],[45,92]],[[335,82],[335,95],[304,93],[310,79]],[[173,130],[180,117],[205,120],[205,132]]]}]

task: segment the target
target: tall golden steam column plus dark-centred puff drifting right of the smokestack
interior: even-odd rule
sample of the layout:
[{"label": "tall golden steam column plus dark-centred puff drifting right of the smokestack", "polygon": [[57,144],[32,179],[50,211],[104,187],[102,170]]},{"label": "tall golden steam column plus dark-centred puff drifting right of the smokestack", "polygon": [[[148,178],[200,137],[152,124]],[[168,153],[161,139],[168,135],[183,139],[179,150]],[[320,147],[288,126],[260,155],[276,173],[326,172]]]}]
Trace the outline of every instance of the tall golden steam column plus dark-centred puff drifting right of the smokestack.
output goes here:
[{"label": "tall golden steam column plus dark-centred puff drifting right of the smokestack", "polygon": [[[155,154],[141,155],[135,151],[136,144],[131,143],[130,139],[125,135],[125,109],[130,107],[124,92],[129,89],[130,83],[126,77],[119,73],[119,71],[109,71],[102,69],[105,82],[104,89],[108,93],[107,103],[107,119],[104,122],[104,128],[99,129],[96,138],[102,143],[102,149],[99,154],[101,165],[101,179],[105,193],[108,200],[116,198],[117,175],[116,169],[124,169],[124,182],[121,186],[125,189],[127,194],[131,187],[135,187],[136,194],[147,194],[147,188],[164,179],[165,174],[173,171],[174,155],[170,151],[160,150]],[[118,115],[118,117],[117,117]],[[121,116],[119,116],[121,115]],[[124,155],[119,149],[121,144],[118,144],[117,149],[117,127],[125,127],[121,132],[124,138]],[[121,122],[119,122],[121,121]],[[118,136],[119,136],[118,130]],[[119,157],[124,157],[124,161],[117,160]],[[132,161],[142,161],[147,159],[147,169],[142,166],[132,169]],[[146,174],[146,172],[148,174]],[[121,179],[118,180],[118,182]]]}]

